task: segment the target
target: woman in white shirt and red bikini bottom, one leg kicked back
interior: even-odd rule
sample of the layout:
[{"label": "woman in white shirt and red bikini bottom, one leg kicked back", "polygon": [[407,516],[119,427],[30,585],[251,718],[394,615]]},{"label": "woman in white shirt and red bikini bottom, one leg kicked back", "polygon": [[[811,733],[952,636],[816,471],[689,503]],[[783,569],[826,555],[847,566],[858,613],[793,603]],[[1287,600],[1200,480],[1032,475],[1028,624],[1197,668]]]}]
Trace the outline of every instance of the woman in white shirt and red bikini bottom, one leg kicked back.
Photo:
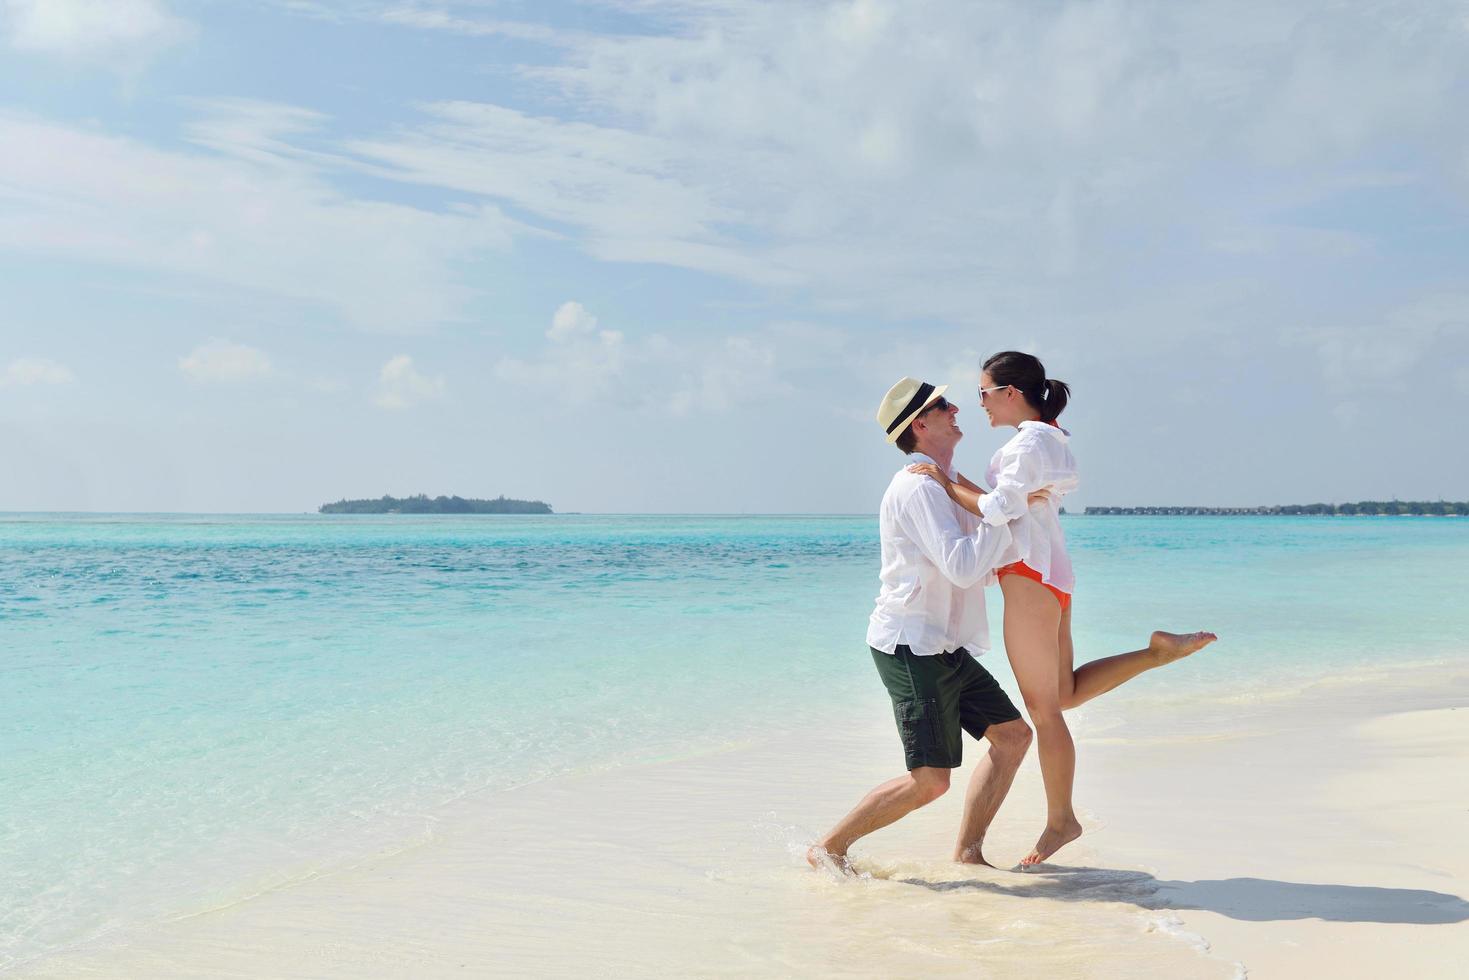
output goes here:
[{"label": "woman in white shirt and red bikini bottom, one leg kicked back", "polygon": [[[1069,398],[1071,388],[1047,379],[1036,357],[995,354],[980,373],[980,407],[992,428],[1018,429],[990,460],[986,476],[995,491],[986,494],[962,476],[950,482],[927,463],[909,467],[939,480],[955,502],[986,523],[1011,526],[1014,544],[995,572],[1005,595],[1005,652],[1036,729],[1046,785],[1046,829],[1021,867],[1044,861],[1081,836],[1071,804],[1077,752],[1061,713],[1216,639],[1213,633],[1155,632],[1144,649],[1072,667],[1075,576],[1058,513],[1077,488],[1077,463],[1068,445],[1071,433],[1056,425]],[[1028,502],[1040,491],[1050,500]]]}]

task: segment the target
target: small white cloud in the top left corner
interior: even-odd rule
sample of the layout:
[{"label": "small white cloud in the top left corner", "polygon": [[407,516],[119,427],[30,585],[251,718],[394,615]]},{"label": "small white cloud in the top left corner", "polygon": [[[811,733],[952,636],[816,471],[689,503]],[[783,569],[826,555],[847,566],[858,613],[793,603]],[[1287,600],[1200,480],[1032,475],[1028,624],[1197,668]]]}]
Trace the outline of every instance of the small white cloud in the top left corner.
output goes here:
[{"label": "small white cloud in the top left corner", "polygon": [[113,65],[194,35],[159,0],[3,0],[12,47]]}]

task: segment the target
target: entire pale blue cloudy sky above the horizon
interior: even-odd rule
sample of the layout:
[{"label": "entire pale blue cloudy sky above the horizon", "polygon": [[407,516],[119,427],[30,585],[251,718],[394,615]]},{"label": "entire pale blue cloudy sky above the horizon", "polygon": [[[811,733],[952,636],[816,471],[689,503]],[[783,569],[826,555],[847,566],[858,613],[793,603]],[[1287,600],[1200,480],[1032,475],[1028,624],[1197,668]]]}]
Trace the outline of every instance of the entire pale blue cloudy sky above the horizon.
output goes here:
[{"label": "entire pale blue cloudy sky above the horizon", "polygon": [[0,0],[0,510],[1466,500],[1462,0]]}]

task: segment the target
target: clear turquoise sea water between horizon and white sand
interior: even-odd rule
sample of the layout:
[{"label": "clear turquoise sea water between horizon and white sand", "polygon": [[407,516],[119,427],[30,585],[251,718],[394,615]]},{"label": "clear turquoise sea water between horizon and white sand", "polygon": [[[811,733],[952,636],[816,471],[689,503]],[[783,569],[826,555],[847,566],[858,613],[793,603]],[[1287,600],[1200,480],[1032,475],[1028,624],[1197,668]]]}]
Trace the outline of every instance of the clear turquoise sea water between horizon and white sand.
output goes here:
[{"label": "clear turquoise sea water between horizon and white sand", "polygon": [[[1463,657],[1469,520],[1064,520],[1078,661],[1221,635],[1115,711]],[[0,516],[0,970],[467,793],[870,724],[876,574],[874,517]]]}]

